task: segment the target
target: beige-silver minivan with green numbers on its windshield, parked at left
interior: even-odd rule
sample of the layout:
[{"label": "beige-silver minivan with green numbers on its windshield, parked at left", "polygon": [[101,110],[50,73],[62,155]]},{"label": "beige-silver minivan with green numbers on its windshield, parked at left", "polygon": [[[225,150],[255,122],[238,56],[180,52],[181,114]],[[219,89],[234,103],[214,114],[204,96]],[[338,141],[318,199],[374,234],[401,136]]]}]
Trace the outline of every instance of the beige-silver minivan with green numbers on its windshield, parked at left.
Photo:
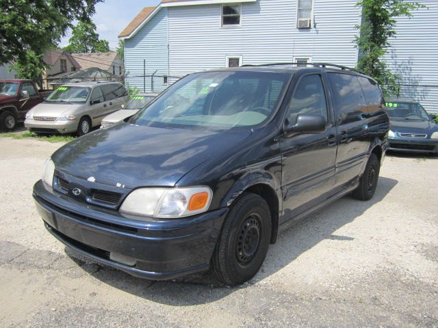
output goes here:
[{"label": "beige-silver minivan with green numbers on its windshield, parked at left", "polygon": [[128,93],[120,83],[68,83],[27,113],[25,127],[36,133],[85,135],[127,100]]}]

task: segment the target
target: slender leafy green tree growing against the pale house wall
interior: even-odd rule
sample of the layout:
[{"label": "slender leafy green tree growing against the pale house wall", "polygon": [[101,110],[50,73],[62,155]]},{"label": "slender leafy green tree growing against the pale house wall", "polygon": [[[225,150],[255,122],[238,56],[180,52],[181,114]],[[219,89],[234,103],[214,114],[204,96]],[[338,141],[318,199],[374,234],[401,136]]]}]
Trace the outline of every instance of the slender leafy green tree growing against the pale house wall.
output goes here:
[{"label": "slender leafy green tree growing against the pale house wall", "polygon": [[395,94],[398,77],[382,61],[383,55],[387,53],[389,38],[396,36],[394,18],[411,18],[412,10],[425,6],[403,0],[362,0],[357,5],[362,6],[362,24],[357,27],[360,35],[355,40],[359,48],[357,67],[376,79],[385,94]]}]

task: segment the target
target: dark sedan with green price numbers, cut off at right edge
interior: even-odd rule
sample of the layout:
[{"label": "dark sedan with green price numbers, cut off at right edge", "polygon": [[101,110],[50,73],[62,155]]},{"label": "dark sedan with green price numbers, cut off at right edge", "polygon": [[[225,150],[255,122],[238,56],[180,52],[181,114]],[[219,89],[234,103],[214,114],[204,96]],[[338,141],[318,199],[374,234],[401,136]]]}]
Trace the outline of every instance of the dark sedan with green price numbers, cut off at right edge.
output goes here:
[{"label": "dark sedan with green price numbers, cut off at right edge", "polygon": [[387,100],[391,120],[389,150],[438,153],[438,125],[422,105],[412,100]]}]

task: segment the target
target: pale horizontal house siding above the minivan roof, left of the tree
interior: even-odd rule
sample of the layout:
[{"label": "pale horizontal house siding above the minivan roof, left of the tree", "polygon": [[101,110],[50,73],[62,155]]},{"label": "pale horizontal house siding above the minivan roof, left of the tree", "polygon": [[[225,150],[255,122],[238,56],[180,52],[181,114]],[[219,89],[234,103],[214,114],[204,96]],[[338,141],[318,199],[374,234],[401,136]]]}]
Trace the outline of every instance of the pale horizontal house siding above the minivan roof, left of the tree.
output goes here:
[{"label": "pale horizontal house siding above the minivan roof, left of the tree", "polygon": [[242,64],[290,62],[306,54],[313,62],[355,66],[353,40],[361,20],[356,3],[315,1],[316,28],[311,29],[296,27],[296,1],[242,3],[238,29],[221,27],[219,4],[168,8],[170,75],[221,68],[224,58],[236,53],[243,56]]}]

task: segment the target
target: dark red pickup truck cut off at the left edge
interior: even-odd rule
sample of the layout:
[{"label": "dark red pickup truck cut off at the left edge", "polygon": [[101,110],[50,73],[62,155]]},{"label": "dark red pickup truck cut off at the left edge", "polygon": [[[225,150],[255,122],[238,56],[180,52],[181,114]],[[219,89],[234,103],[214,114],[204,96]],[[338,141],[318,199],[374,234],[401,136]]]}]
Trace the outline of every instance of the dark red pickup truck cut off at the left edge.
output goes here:
[{"label": "dark red pickup truck cut off at the left edge", "polygon": [[31,80],[0,80],[0,130],[12,131],[26,113],[49,96],[52,90],[38,90]]}]

